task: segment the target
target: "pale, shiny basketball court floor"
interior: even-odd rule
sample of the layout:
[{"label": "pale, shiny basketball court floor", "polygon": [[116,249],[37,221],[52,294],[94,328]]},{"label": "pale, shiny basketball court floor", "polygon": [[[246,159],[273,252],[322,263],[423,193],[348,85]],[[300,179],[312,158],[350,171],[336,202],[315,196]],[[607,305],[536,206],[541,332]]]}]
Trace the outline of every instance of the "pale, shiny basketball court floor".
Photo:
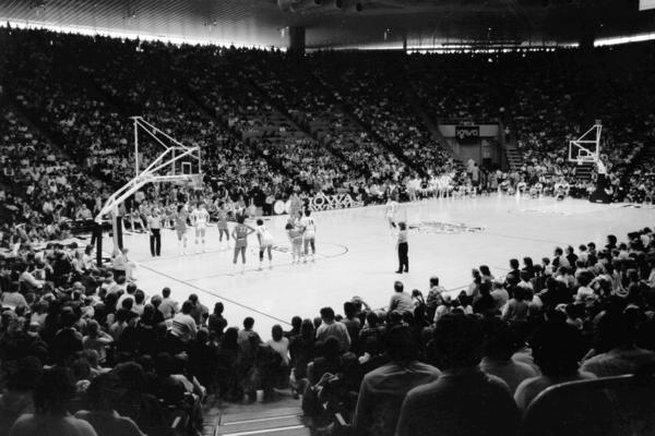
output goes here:
[{"label": "pale, shiny basketball court floor", "polygon": [[[624,240],[629,231],[655,225],[653,206],[593,204],[582,199],[557,202],[508,196],[439,198],[402,204],[397,220],[409,225],[409,274],[397,275],[395,237],[384,218],[384,206],[314,213],[317,261],[291,265],[289,242],[284,231],[286,215],[264,218],[275,238],[273,269],[258,270],[259,251],[249,237],[248,264],[231,264],[233,250],[218,245],[215,225],[207,229],[206,252],[179,256],[174,230],[162,234],[162,256],[150,255],[148,235],[124,234],[129,257],[139,264],[139,287],[147,294],[169,287],[178,301],[196,293],[212,311],[225,304],[230,326],[243,317],[255,318],[255,330],[270,338],[274,324],[289,323],[294,315],[314,317],[322,306],[342,305],[353,295],[371,307],[383,307],[402,280],[407,291],[428,290],[428,279],[437,275],[441,283],[456,292],[471,282],[471,269],[488,265],[496,277],[508,270],[511,257],[532,256],[538,263],[551,256],[557,245],[596,242],[607,234]],[[254,225],[252,221],[248,222]],[[230,231],[234,223],[230,223]],[[189,253],[193,253],[193,229],[189,229]],[[111,240],[106,235],[104,246]],[[283,324],[283,328],[288,326]]]}]

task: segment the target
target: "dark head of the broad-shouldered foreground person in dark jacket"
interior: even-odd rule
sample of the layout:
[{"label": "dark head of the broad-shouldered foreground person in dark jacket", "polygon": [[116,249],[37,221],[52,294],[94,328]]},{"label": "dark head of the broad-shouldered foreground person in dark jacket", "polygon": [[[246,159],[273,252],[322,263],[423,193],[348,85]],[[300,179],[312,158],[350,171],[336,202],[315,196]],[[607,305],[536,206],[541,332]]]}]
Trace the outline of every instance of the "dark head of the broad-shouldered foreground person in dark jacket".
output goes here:
[{"label": "dark head of the broad-shouldered foreground person in dark jacket", "polygon": [[480,322],[462,314],[443,315],[434,328],[434,344],[444,370],[475,367],[484,349]]}]

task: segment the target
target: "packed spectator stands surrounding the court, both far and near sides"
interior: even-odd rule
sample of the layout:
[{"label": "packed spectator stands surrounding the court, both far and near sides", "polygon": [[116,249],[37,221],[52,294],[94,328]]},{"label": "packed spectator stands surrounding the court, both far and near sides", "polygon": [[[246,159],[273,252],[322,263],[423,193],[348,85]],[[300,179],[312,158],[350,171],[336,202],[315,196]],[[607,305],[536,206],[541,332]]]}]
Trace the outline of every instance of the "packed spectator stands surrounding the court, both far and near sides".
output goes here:
[{"label": "packed spectator stands surrounding the court, both far and near sides", "polygon": [[[445,192],[472,186],[474,171],[462,172],[440,148],[414,98],[436,118],[509,122],[524,166],[479,169],[474,191],[540,183],[555,194],[567,182],[586,195],[591,185],[565,160],[590,112],[588,70],[573,51],[491,62],[456,55],[405,62],[385,52],[299,60],[0,33],[8,47],[0,52],[0,434],[29,434],[44,416],[90,435],[198,434],[207,396],[247,402],[263,390],[273,401],[289,388],[317,434],[534,434],[527,412],[548,387],[651,371],[651,229],[558,247],[541,263],[511,259],[502,278],[480,266],[456,296],[437,277],[412,293],[397,282],[386,307],[357,298],[343,311],[317,307],[288,331],[275,326],[266,342],[252,318],[230,325],[221,303],[210,311],[198,295],[178,302],[170,290],[140,289],[126,253],[97,267],[93,249],[45,243],[66,240],[70,219],[93,218],[133,175],[133,114],[199,145],[205,159],[200,192],[150,186],[142,208],[168,210],[193,195],[239,207],[293,193],[380,203],[428,195],[442,178]],[[626,53],[600,55],[612,68],[594,78],[593,112],[607,126],[611,195],[653,203],[653,55],[630,65],[624,81],[612,73]],[[630,99],[635,88],[639,102]],[[142,159],[156,150],[144,144]]]}]

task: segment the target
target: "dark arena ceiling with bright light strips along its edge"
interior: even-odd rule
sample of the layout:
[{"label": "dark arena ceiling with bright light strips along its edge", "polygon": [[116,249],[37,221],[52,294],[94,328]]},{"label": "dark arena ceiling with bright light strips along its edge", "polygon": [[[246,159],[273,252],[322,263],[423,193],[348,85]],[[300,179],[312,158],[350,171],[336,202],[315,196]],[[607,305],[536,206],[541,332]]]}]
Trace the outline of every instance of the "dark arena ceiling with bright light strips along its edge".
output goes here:
[{"label": "dark arena ceiling with bright light strips along its edge", "polygon": [[570,43],[581,27],[605,36],[655,31],[655,12],[638,12],[638,0],[344,0],[344,9],[337,1],[1,0],[0,20],[265,47],[286,47],[288,27],[305,26],[308,48],[401,47],[405,38],[421,47]]}]

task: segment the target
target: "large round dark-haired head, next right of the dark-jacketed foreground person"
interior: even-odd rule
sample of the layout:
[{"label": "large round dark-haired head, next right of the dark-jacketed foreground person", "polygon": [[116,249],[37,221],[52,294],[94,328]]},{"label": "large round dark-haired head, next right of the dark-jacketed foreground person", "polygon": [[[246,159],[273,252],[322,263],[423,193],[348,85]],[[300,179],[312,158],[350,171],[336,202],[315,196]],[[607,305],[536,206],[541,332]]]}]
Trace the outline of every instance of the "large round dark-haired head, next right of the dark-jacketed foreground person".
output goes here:
[{"label": "large round dark-haired head, next right of the dark-jacketed foreground person", "polygon": [[549,377],[575,374],[585,351],[580,330],[561,319],[544,324],[535,332],[531,346],[535,363]]}]

